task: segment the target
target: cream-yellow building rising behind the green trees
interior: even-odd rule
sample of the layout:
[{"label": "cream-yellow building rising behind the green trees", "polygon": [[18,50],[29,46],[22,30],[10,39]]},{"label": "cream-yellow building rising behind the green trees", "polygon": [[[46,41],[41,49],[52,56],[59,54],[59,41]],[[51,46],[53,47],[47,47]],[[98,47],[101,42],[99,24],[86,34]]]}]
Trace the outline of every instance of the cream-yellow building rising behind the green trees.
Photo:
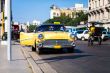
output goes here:
[{"label": "cream-yellow building rising behind the green trees", "polygon": [[88,8],[84,8],[83,4],[75,4],[75,7],[70,8],[59,8],[55,5],[50,7],[50,19],[54,17],[59,17],[61,15],[69,16],[74,18],[74,12],[84,11],[85,13],[88,11]]}]

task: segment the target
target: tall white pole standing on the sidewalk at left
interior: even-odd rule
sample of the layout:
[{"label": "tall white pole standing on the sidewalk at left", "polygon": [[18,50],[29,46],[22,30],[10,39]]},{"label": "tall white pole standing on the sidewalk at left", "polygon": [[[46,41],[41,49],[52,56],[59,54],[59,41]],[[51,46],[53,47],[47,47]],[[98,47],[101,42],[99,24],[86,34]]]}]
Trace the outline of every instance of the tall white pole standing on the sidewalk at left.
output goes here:
[{"label": "tall white pole standing on the sidewalk at left", "polygon": [[12,49],[11,49],[11,0],[5,0],[5,18],[7,25],[7,59],[11,61]]}]

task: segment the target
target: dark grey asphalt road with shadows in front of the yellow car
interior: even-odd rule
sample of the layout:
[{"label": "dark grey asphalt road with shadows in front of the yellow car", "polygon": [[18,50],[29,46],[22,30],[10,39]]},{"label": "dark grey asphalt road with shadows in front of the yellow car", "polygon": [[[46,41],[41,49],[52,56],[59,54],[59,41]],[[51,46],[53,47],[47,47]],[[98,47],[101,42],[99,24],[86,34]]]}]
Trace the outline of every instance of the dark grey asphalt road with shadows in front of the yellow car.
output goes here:
[{"label": "dark grey asphalt road with shadows in front of the yellow car", "polygon": [[110,73],[110,41],[93,46],[88,46],[87,41],[76,41],[74,53],[51,52],[37,56],[40,57],[37,64],[48,63],[58,73]]}]

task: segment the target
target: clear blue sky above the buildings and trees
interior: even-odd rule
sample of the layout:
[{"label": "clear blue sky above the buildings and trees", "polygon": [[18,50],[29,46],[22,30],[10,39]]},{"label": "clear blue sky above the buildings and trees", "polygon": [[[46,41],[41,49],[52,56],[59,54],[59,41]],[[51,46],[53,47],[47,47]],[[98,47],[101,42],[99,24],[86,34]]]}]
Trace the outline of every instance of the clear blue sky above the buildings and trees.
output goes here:
[{"label": "clear blue sky above the buildings and trees", "polygon": [[33,20],[44,22],[49,19],[51,5],[65,8],[75,3],[83,3],[87,7],[88,0],[12,0],[13,20],[21,23]]}]

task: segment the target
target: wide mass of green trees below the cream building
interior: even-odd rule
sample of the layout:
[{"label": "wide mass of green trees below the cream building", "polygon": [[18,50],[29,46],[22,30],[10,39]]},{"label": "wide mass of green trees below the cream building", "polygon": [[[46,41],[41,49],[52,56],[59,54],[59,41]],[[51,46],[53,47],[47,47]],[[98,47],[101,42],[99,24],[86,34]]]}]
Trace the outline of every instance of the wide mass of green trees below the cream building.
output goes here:
[{"label": "wide mass of green trees below the cream building", "polygon": [[48,19],[45,21],[45,24],[52,24],[54,22],[60,22],[61,24],[64,24],[66,26],[77,26],[80,24],[81,21],[87,22],[88,15],[84,14],[83,11],[80,12],[74,12],[72,13],[73,17],[70,18],[69,16],[65,16],[65,14],[61,14],[60,17],[54,17],[53,19]]}]

